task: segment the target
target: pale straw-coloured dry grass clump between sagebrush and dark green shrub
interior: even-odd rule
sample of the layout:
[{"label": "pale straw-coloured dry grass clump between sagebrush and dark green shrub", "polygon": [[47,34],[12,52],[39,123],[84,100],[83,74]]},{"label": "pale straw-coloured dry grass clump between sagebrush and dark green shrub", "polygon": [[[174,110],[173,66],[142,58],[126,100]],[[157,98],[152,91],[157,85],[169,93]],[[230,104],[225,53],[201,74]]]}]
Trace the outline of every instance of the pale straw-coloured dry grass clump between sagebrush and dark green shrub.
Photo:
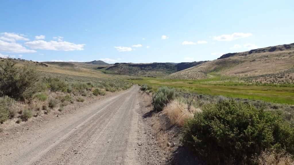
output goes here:
[{"label": "pale straw-coloured dry grass clump between sagebrush and dark green shrub", "polygon": [[[163,113],[168,116],[171,124],[183,126],[186,119],[193,118],[194,116],[193,113],[189,112],[184,107],[186,106],[183,105],[183,103],[180,103],[178,100],[173,100],[166,107],[164,107]],[[194,107],[191,108],[193,108],[193,112],[196,111]]]}]

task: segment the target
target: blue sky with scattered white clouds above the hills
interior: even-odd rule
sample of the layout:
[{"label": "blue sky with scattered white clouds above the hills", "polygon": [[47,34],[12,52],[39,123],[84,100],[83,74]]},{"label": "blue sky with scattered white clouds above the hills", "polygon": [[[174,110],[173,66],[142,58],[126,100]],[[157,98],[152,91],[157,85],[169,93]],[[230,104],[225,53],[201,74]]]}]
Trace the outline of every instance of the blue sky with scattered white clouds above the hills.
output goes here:
[{"label": "blue sky with scattered white clouds above the hills", "polygon": [[294,42],[294,1],[1,1],[0,57],[214,60]]}]

